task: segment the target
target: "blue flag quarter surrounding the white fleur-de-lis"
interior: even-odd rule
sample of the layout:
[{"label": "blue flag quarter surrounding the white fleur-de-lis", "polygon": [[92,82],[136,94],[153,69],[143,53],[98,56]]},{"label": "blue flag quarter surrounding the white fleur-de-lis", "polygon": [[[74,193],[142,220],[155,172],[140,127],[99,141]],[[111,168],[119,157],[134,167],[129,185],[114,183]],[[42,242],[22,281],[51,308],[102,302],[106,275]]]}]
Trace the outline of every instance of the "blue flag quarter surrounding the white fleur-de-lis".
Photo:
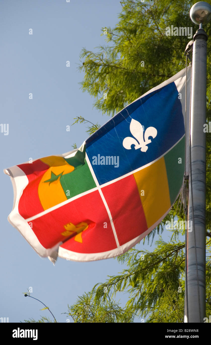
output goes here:
[{"label": "blue flag quarter surrounding the white fleur-de-lis", "polygon": [[[156,137],[141,149],[123,147],[125,137],[132,137],[131,120],[155,127]],[[169,150],[185,133],[182,105],[174,82],[156,90],[127,106],[86,141],[86,152],[99,184],[104,184],[157,159]],[[135,138],[134,138],[135,139]],[[118,156],[119,166],[95,165],[93,157]]]}]

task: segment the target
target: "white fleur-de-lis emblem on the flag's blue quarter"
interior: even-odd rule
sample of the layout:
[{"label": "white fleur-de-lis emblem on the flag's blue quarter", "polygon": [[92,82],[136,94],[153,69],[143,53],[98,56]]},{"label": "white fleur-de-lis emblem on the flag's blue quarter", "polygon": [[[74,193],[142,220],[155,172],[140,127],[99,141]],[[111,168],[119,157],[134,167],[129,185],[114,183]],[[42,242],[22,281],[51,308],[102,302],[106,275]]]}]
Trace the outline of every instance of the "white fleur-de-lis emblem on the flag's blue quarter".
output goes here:
[{"label": "white fleur-de-lis emblem on the flag's blue quarter", "polygon": [[132,119],[131,124],[130,124],[130,131],[131,134],[137,139],[135,140],[132,137],[126,137],[123,140],[123,146],[127,150],[131,149],[131,145],[135,145],[134,148],[135,150],[141,149],[142,152],[146,152],[148,149],[148,144],[150,144],[152,141],[149,139],[149,137],[153,137],[153,139],[157,135],[157,130],[154,127],[148,127],[145,130],[145,133],[143,133],[143,127],[140,124],[140,122]]}]

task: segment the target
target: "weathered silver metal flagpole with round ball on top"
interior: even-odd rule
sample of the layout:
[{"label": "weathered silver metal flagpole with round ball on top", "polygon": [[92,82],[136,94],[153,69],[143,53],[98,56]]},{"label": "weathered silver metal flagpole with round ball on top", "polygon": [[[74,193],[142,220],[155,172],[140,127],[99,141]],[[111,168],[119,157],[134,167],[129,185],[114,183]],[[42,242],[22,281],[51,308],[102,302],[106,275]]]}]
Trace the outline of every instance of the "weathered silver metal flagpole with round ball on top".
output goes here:
[{"label": "weathered silver metal flagpole with round ball on top", "polygon": [[[190,169],[188,199],[187,267],[184,322],[204,322],[205,315],[205,187],[206,187],[206,123],[207,102],[207,39],[202,24],[207,24],[211,6],[195,3],[191,20],[200,24],[193,40]],[[187,138],[188,140],[188,138]]]}]

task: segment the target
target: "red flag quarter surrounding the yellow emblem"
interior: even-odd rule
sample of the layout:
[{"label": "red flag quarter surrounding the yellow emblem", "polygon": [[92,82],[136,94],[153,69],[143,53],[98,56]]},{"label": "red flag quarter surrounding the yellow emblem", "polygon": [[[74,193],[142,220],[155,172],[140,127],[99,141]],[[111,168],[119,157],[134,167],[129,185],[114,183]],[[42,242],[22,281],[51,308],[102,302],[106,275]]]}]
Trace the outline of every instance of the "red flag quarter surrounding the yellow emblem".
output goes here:
[{"label": "red flag quarter surrounding the yellow emblem", "polygon": [[[78,253],[99,253],[116,248],[116,241],[106,208],[98,191],[84,195],[31,221],[32,229],[39,242],[50,248],[59,241],[64,241],[64,225],[81,222],[88,223],[87,230],[81,233],[82,243],[75,238],[67,240],[61,247]],[[107,228],[104,228],[104,222]]]}]

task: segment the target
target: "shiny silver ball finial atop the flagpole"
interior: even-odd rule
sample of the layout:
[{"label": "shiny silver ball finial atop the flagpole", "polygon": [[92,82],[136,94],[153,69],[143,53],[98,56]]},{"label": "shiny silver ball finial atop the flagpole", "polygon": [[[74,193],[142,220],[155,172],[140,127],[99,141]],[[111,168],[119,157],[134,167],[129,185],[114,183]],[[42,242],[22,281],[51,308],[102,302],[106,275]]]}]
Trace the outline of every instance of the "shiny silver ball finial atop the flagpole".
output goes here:
[{"label": "shiny silver ball finial atop the flagpole", "polygon": [[211,20],[211,5],[205,1],[194,3],[190,9],[190,17],[192,22],[200,25],[202,29],[202,24],[206,25]]}]

